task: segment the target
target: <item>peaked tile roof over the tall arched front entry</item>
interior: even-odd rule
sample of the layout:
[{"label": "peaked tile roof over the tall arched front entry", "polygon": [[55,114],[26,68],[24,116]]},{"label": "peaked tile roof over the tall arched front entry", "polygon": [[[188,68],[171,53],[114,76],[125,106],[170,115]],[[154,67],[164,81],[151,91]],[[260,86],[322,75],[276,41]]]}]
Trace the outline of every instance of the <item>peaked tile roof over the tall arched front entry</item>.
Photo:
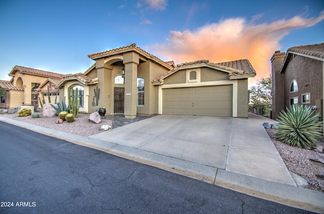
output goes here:
[{"label": "peaked tile roof over the tall arched front entry", "polygon": [[160,65],[167,67],[168,69],[173,68],[172,64],[170,64],[170,62],[164,62],[163,60],[160,60],[159,58],[155,57],[151,53],[148,53],[145,50],[143,50],[142,48],[136,46],[136,43],[133,43],[129,46],[118,47],[115,49],[106,50],[103,52],[92,53],[92,54],[88,55],[88,57],[92,60],[96,60],[96,59],[99,59],[102,57],[108,57],[108,56],[112,56],[112,55],[116,55],[116,54],[120,54],[120,53],[128,52],[128,51],[136,51],[136,52],[140,53],[141,55],[145,56],[146,58],[150,58],[153,61],[159,63]]}]

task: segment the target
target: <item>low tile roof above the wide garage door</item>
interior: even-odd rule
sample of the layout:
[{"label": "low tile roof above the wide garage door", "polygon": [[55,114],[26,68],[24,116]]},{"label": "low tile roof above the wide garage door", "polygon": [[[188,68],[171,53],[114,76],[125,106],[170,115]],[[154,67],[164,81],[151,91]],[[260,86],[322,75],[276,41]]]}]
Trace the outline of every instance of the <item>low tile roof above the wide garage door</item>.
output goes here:
[{"label": "low tile roof above the wide garage door", "polygon": [[255,70],[253,69],[249,60],[236,60],[224,63],[210,63],[209,60],[199,60],[194,62],[186,62],[182,64],[178,64],[177,67],[173,68],[172,70],[166,72],[164,75],[155,78],[152,83],[161,83],[162,80],[171,74],[187,68],[195,68],[195,67],[210,67],[215,68],[224,72],[229,73],[229,77],[232,76],[239,76],[239,75],[247,75],[252,74],[252,76],[256,75]]}]

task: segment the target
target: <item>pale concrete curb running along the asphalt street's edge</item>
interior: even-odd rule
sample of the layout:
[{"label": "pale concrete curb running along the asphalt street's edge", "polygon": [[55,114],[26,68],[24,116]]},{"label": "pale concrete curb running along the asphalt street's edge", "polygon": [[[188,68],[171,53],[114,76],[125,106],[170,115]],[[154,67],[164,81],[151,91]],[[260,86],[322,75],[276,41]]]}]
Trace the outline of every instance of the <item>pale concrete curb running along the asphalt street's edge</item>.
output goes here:
[{"label": "pale concrete curb running along the asphalt street's edge", "polygon": [[299,209],[324,213],[324,194],[310,189],[266,181],[137,148],[93,139],[91,137],[83,137],[56,131],[5,117],[0,117],[0,121],[63,139],[71,143],[104,151],[169,172],[201,180],[226,189],[231,189]]}]

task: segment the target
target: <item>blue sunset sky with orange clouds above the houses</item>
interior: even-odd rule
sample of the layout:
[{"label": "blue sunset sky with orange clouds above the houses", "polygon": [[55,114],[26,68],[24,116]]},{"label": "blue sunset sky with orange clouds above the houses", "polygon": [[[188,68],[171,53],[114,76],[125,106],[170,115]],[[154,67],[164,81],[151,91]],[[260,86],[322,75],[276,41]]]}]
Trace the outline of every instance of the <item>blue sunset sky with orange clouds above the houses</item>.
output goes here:
[{"label": "blue sunset sky with orange clouds above the houses", "polygon": [[324,42],[324,1],[17,1],[0,2],[0,79],[15,65],[85,72],[88,55],[135,42],[176,64],[248,59],[271,73],[275,50]]}]

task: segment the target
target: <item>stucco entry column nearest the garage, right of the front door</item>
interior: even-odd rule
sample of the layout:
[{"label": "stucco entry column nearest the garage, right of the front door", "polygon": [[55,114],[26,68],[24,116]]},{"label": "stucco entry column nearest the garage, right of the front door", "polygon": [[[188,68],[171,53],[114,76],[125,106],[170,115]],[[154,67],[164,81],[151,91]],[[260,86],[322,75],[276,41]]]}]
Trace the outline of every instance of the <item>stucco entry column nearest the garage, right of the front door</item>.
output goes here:
[{"label": "stucco entry column nearest the garage, right of the front door", "polygon": [[125,118],[135,118],[137,115],[137,65],[139,55],[135,52],[124,53],[125,65]]}]

